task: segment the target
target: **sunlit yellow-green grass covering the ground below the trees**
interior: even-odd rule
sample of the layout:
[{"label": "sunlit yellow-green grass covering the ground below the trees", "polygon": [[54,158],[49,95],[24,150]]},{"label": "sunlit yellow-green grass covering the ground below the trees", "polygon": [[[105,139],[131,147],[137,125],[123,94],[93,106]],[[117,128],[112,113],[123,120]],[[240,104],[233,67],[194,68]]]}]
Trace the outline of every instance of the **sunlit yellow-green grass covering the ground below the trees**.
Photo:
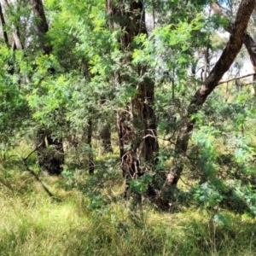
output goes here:
[{"label": "sunlit yellow-green grass covering the ground below the trees", "polygon": [[44,177],[61,199],[45,194],[29,173],[0,172],[0,255],[256,255],[253,219],[229,213],[228,226],[210,226],[207,212],[136,212],[120,200],[89,211],[87,199]]}]

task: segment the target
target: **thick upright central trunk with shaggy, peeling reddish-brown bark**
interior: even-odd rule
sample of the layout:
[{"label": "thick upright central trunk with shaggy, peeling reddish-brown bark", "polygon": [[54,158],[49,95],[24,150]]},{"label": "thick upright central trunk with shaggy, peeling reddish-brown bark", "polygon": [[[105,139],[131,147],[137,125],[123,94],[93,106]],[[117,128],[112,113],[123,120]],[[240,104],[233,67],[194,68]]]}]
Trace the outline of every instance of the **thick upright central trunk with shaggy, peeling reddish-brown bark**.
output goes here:
[{"label": "thick upright central trunk with shaggy, peeling reddish-brown bark", "polygon": [[[119,38],[120,49],[125,53],[122,64],[131,62],[132,41],[139,34],[147,34],[145,13],[142,0],[106,1],[109,26],[114,30],[119,25],[122,35]],[[127,7],[128,6],[128,7]],[[147,67],[136,67],[137,76],[142,78]],[[154,82],[150,78],[134,82],[129,75],[119,70],[116,73],[119,84],[132,84],[137,95],[130,104],[118,112],[117,127],[119,135],[120,160],[126,185],[129,180],[137,179],[144,173],[144,167],[154,168],[158,154],[156,122],[154,115]],[[143,162],[143,165],[141,164]]]}]

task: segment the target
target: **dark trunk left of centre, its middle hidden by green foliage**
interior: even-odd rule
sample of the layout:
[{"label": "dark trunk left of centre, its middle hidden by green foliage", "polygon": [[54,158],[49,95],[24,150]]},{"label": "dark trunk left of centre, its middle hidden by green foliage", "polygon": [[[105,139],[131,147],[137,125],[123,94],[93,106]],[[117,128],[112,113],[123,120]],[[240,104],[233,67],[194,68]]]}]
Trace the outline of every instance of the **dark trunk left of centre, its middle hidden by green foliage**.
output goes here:
[{"label": "dark trunk left of centre, its middle hidden by green foliage", "polygon": [[[49,55],[52,47],[45,44],[45,35],[48,32],[48,23],[44,15],[44,5],[42,0],[32,0],[33,14],[38,17],[38,42],[44,55]],[[51,70],[52,72],[52,70]],[[39,166],[44,172],[49,175],[59,175],[63,171],[64,164],[64,150],[62,139],[55,139],[52,137],[51,131],[44,128],[38,131],[38,143],[42,145],[38,148],[38,162]]]}]

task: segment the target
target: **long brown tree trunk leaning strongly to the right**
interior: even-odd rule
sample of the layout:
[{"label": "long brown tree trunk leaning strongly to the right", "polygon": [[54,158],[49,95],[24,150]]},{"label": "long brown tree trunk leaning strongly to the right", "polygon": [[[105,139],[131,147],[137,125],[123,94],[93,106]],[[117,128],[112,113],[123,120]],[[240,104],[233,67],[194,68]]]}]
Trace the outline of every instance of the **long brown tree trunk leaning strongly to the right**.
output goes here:
[{"label": "long brown tree trunk leaning strongly to the right", "polygon": [[207,100],[207,96],[209,96],[212,93],[212,90],[216,88],[219,80],[223,77],[224,73],[229,70],[236,55],[239,53],[247,29],[247,23],[253,12],[253,6],[254,0],[241,1],[236,14],[235,23],[232,26],[229,42],[226,44],[226,47],[218,59],[218,62],[213,67],[212,72],[201,85],[201,88],[195,92],[195,96],[189,104],[187,117],[177,137],[175,147],[176,157],[173,160],[172,172],[169,175],[169,179],[166,180],[166,184],[170,189],[177,185],[183,172],[182,156],[187,152],[189,138],[195,125],[195,119],[193,119],[192,116],[195,113],[198,113],[201,109],[203,103]]}]

